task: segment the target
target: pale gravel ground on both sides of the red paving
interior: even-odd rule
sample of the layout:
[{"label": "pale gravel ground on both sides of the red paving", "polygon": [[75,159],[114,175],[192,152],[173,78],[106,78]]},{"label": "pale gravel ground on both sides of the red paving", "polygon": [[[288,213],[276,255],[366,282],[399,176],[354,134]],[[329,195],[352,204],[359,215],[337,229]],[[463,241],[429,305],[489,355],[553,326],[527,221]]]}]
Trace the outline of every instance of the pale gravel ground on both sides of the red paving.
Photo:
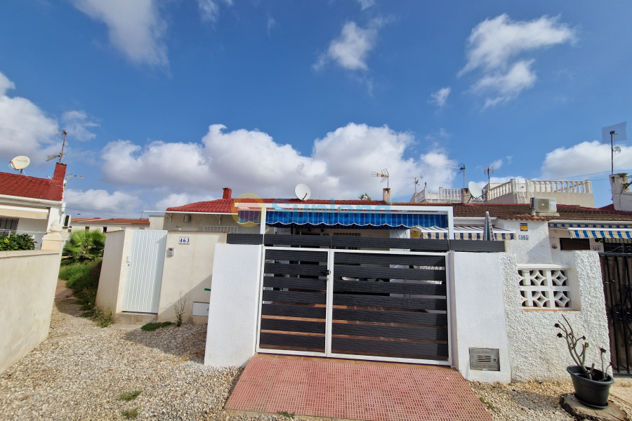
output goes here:
[{"label": "pale gravel ground on both sides of the red paving", "polygon": [[[94,329],[74,300],[55,300],[49,338]],[[143,332],[105,328],[46,340],[0,375],[0,420],[287,420],[237,417],[223,411],[240,368],[207,367],[206,325]],[[632,387],[630,380],[617,385]],[[568,382],[511,385],[470,382],[494,421],[572,421],[558,405]],[[142,391],[123,401],[124,392]],[[614,399],[628,415],[632,408]],[[296,417],[296,420],[311,420]]]}]

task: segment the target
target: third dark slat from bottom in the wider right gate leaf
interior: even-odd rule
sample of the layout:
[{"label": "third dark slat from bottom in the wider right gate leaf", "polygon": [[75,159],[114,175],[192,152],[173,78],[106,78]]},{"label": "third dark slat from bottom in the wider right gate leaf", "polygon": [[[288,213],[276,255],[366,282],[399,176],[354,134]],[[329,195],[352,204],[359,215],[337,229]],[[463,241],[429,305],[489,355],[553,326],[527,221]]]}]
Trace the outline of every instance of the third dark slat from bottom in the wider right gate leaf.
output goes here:
[{"label": "third dark slat from bottom in the wider right gate leaf", "polygon": [[419,324],[425,326],[447,326],[447,314],[440,313],[382,312],[379,310],[334,309],[333,319],[373,321],[378,323]]}]

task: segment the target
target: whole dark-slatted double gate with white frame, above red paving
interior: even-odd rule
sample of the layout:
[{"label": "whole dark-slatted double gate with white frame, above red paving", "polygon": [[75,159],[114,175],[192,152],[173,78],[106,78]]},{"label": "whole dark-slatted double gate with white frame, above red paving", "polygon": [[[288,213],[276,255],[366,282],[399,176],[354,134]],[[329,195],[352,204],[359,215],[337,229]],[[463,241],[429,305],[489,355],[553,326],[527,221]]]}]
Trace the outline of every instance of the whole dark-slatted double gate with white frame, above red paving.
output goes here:
[{"label": "whole dark-slatted double gate with white frame, above red paving", "polygon": [[447,253],[263,253],[257,352],[452,363]]}]

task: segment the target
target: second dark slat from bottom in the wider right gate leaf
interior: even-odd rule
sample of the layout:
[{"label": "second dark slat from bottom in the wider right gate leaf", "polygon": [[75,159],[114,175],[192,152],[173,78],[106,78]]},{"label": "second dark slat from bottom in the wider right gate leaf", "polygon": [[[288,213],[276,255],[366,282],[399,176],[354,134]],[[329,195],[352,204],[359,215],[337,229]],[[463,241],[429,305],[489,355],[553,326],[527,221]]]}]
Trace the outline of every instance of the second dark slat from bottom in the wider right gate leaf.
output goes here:
[{"label": "second dark slat from bottom in the wider right gate leaf", "polygon": [[447,341],[447,329],[435,328],[409,328],[402,326],[334,323],[331,333],[333,335],[369,336],[372,338],[402,338]]}]

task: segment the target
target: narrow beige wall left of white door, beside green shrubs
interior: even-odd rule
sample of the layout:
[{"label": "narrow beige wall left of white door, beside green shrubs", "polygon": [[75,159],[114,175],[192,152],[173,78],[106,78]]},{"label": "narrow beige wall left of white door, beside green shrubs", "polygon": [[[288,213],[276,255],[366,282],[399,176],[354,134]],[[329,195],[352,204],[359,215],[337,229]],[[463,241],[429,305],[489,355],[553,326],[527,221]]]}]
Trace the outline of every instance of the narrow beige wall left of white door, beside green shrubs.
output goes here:
[{"label": "narrow beige wall left of white door, beside green shrubs", "polygon": [[121,312],[131,234],[131,230],[125,229],[111,232],[105,239],[96,305],[112,314]]}]

